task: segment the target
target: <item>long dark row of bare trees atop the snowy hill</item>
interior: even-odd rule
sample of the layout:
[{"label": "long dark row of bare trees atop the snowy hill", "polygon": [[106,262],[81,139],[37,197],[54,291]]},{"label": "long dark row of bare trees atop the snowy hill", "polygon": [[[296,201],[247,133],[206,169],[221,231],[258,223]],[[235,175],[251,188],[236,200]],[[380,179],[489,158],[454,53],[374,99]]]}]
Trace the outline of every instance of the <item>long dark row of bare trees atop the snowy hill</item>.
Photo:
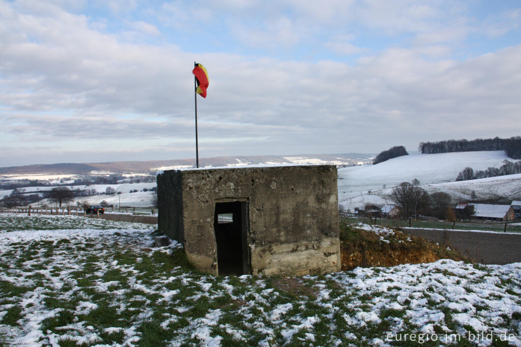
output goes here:
[{"label": "long dark row of bare trees atop the snowy hill", "polygon": [[513,159],[521,159],[521,137],[510,139],[475,139],[445,140],[437,142],[420,142],[418,151],[421,154],[437,154],[452,152],[505,151]]}]

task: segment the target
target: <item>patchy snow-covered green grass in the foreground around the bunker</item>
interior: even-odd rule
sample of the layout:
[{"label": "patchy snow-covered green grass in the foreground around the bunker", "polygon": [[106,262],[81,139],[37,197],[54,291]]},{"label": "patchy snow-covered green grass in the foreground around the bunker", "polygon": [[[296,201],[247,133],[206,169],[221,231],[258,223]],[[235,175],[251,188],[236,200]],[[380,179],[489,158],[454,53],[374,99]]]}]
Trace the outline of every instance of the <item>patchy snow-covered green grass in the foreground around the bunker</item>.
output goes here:
[{"label": "patchy snow-covered green grass in the foreground around the bunker", "polygon": [[0,344],[521,346],[521,263],[213,277],[149,226],[81,220],[0,215]]}]

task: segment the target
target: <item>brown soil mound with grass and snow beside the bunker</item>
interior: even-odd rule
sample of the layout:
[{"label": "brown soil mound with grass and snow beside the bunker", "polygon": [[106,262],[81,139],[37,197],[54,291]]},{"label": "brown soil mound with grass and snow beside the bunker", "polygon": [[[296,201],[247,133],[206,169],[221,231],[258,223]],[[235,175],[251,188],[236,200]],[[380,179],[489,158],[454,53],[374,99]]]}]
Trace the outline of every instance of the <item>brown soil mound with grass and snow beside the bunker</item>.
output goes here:
[{"label": "brown soil mound with grass and snow beside the bunker", "polygon": [[341,225],[342,270],[357,266],[394,266],[436,262],[439,259],[468,261],[460,253],[403,231],[366,231]]}]

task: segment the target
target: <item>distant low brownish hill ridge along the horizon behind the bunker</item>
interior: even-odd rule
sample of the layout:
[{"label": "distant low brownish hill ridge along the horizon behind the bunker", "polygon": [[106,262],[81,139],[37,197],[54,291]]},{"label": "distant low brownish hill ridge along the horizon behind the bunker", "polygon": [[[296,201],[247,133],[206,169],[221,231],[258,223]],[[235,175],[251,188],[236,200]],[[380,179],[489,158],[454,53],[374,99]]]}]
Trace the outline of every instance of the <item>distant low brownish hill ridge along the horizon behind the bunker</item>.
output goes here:
[{"label": "distant low brownish hill ridge along the horizon behind the bunker", "polygon": [[[374,154],[343,153],[343,154],[294,154],[294,155],[265,155],[265,156],[227,156],[214,158],[200,158],[200,166],[230,166],[239,164],[333,164],[339,166],[358,165],[369,163]],[[107,162],[84,164],[41,164],[27,166],[11,166],[0,168],[0,175],[29,175],[29,174],[73,174],[90,175],[92,171],[111,173],[141,173],[147,175],[158,169],[176,167],[190,167],[195,165],[195,159],[148,160],[145,162]]]}]

